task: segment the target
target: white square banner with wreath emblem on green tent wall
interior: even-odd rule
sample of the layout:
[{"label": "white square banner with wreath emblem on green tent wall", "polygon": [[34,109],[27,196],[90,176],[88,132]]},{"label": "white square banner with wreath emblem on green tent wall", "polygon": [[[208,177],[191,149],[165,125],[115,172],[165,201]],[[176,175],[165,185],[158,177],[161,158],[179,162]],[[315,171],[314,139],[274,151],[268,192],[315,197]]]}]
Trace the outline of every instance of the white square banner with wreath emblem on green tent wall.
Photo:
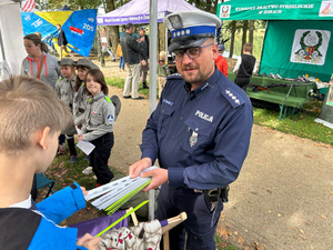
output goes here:
[{"label": "white square banner with wreath emblem on green tent wall", "polygon": [[323,66],[331,39],[327,30],[296,30],[291,62]]}]

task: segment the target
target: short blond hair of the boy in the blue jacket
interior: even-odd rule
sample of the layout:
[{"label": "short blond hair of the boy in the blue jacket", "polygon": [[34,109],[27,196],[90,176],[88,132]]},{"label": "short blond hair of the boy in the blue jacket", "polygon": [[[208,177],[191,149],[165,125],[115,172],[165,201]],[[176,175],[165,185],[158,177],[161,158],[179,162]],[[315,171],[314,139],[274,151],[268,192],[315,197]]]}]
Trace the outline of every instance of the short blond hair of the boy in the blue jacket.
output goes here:
[{"label": "short blond hair of the boy in the blue jacket", "polygon": [[73,123],[68,106],[53,89],[30,77],[0,82],[0,153],[19,156],[27,151],[38,131],[54,134]]}]

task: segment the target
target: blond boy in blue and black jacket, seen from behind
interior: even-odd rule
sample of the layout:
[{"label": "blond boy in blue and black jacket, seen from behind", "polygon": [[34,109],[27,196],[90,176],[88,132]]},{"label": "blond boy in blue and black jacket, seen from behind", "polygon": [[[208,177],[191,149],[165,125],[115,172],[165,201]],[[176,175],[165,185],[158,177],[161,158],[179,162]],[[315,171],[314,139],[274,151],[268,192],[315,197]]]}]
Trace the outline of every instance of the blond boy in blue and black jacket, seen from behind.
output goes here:
[{"label": "blond boy in blue and black jacket, seen from behind", "polygon": [[77,229],[56,224],[85,207],[84,188],[73,183],[37,204],[30,196],[73,122],[68,106],[50,86],[19,76],[0,82],[0,249],[97,250],[100,238],[77,241]]}]

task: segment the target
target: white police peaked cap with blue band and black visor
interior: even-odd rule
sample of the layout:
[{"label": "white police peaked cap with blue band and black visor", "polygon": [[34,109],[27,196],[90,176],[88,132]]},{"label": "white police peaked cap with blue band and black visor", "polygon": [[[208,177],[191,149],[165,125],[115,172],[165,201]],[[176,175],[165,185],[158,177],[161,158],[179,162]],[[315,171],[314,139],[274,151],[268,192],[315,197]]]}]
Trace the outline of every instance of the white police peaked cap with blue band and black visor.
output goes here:
[{"label": "white police peaked cap with blue band and black visor", "polygon": [[172,39],[169,51],[201,46],[208,38],[216,34],[222,21],[204,11],[180,11],[168,14],[163,20]]}]

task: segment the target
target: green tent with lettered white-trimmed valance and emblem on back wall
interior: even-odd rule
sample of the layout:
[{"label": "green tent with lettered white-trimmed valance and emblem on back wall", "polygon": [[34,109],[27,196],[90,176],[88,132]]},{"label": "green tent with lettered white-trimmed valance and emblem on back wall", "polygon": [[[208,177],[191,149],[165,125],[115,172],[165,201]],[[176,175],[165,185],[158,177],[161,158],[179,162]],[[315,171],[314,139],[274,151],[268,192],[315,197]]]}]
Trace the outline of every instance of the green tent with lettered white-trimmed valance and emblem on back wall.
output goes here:
[{"label": "green tent with lettered white-trimmed valance and emblem on back wall", "polygon": [[218,6],[221,20],[270,20],[260,73],[309,74],[329,81],[333,71],[333,1],[231,0]]}]

